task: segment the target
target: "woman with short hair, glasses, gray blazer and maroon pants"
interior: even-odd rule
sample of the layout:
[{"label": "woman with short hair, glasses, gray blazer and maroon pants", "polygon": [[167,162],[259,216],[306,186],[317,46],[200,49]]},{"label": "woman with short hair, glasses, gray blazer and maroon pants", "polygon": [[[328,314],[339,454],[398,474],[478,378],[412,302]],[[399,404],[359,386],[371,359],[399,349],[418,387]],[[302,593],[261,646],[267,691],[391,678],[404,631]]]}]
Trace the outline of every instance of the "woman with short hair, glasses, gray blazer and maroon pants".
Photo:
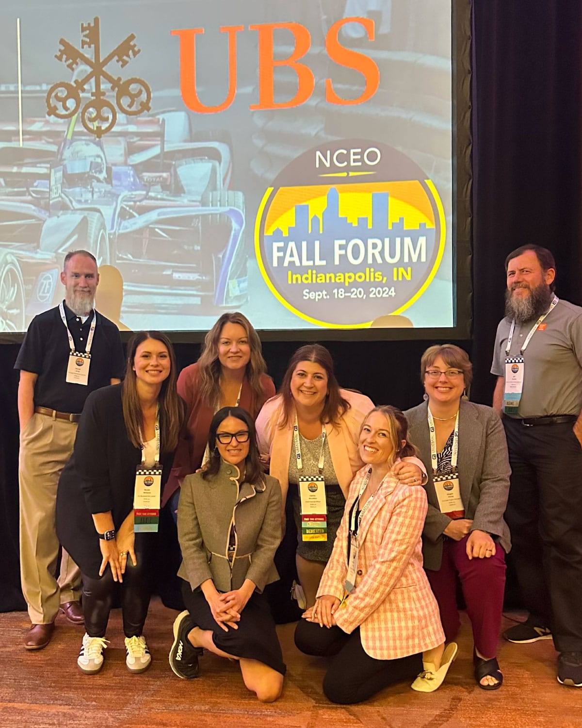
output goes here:
[{"label": "woman with short hair, glasses, gray blazer and maroon pants", "polygon": [[482,689],[495,690],[503,682],[496,654],[505,554],[511,548],[503,521],[510,470],[498,414],[463,399],[471,376],[463,349],[454,344],[426,349],[420,378],[428,401],[404,414],[428,473],[424,568],[445,636],[453,640],[460,627],[459,578],[473,628],[475,680]]}]

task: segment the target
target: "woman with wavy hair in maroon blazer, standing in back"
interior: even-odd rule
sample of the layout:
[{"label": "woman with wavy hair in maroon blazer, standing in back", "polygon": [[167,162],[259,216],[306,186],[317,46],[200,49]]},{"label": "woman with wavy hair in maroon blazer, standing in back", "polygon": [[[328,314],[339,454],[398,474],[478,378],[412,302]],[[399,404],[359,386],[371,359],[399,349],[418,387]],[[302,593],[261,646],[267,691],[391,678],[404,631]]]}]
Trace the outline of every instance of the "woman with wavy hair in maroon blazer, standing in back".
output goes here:
[{"label": "woman with wavy hair in maroon blazer, standing in back", "polygon": [[196,364],[178,377],[178,393],[188,408],[186,435],[180,439],[162,506],[178,508],[180,484],[204,462],[210,422],[221,407],[240,406],[256,419],[260,408],[275,394],[266,374],[260,339],[241,313],[225,313],[207,333]]}]

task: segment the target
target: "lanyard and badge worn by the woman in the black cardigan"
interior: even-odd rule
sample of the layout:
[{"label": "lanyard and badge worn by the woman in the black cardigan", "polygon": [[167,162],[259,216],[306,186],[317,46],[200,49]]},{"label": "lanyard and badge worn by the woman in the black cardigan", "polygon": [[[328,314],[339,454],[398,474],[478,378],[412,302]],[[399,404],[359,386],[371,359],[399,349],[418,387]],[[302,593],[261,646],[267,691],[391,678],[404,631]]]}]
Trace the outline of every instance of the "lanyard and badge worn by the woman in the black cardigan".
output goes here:
[{"label": "lanyard and badge worn by the woman in the black cardigan", "polygon": [[156,456],[154,467],[146,467],[146,445],[140,428],[141,463],[135,469],[133,520],[135,533],[156,532],[159,524],[159,505],[162,495],[162,468],[159,465],[160,432],[159,405],[156,408]]}]

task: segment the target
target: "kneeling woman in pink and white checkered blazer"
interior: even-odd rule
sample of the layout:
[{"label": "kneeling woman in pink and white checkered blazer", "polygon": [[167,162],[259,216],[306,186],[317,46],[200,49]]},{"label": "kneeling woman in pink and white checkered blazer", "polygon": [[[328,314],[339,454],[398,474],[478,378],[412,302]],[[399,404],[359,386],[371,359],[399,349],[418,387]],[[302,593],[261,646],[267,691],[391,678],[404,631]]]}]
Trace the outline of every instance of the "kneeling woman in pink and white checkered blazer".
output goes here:
[{"label": "kneeling woman in pink and white checkered blazer", "polygon": [[295,630],[301,652],[333,657],[323,683],[332,703],[359,703],[417,675],[412,687],[431,692],[457,652],[454,643],[445,649],[423,571],[426,493],[394,475],[394,465],[415,454],[402,412],[382,406],[367,415],[364,467],[351,482],[317,601]]}]

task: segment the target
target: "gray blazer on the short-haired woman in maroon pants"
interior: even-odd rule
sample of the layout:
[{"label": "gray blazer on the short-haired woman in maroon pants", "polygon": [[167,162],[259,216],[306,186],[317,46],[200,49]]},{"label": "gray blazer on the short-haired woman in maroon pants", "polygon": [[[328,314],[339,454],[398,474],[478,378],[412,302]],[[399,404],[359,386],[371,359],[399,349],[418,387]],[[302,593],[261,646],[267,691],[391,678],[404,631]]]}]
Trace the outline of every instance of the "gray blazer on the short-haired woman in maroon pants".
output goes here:
[{"label": "gray blazer on the short-haired woman in maroon pants", "polygon": [[[423,559],[426,569],[438,571],[442,561],[442,532],[450,518],[439,510],[432,480],[431,440],[428,432],[428,403],[404,412],[410,441],[420,450],[426,466],[428,513],[423,530]],[[498,537],[506,553],[511,549],[509,527],[503,520],[509,495],[509,456],[503,424],[491,407],[461,400],[459,409],[459,454],[457,467],[465,518],[471,531],[487,531]]]}]

